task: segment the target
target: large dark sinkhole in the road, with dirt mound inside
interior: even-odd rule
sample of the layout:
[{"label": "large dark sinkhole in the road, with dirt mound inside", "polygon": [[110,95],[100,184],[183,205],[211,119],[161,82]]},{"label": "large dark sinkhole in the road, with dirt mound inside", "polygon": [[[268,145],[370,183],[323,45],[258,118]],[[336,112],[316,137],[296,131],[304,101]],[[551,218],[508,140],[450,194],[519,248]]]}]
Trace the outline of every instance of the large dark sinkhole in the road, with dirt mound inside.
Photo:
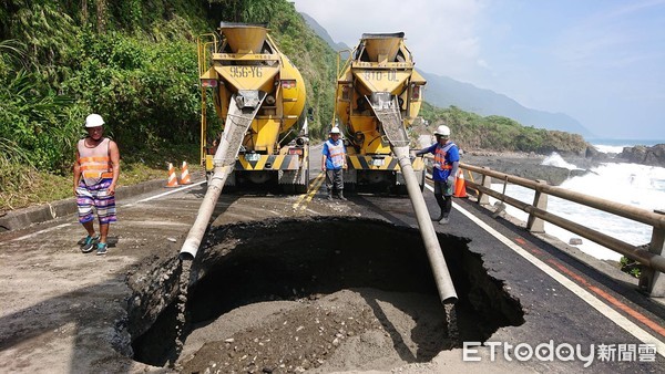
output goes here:
[{"label": "large dark sinkhole in the road, with dirt mound inside", "polygon": [[385,370],[522,324],[519,300],[488,274],[472,240],[438,236],[459,297],[454,326],[416,229],[347,217],[213,228],[177,268],[190,284],[184,321],[177,284],[130,313],[134,360],[183,372]]}]

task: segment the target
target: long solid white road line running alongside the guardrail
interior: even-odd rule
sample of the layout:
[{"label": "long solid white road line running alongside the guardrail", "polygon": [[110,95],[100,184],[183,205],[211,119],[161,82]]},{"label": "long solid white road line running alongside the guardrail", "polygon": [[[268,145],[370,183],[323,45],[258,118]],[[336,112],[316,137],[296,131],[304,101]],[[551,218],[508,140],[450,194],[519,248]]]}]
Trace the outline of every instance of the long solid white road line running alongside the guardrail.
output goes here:
[{"label": "long solid white road line running alongside the guardrail", "polygon": [[[433,193],[432,187],[430,187],[429,185],[426,185],[426,187],[427,187],[427,189],[429,189],[430,191]],[[647,343],[647,344],[654,344],[656,346],[656,351],[658,352],[658,354],[665,357],[665,343],[663,343],[662,341],[656,339],[654,335],[649,334],[648,332],[646,332],[645,330],[643,330],[642,328],[640,328],[638,325],[633,323],[627,318],[625,318],[622,314],[620,314],[618,312],[616,312],[614,309],[610,308],[607,304],[605,304],[604,302],[602,302],[601,300],[595,298],[593,294],[591,294],[591,292],[589,292],[585,289],[583,289],[582,287],[577,285],[576,283],[574,283],[573,281],[571,281],[570,279],[564,277],[559,271],[552,269],[550,266],[548,266],[543,261],[535,258],[533,254],[531,254],[528,251],[525,251],[524,249],[522,249],[522,247],[518,246],[515,242],[513,242],[509,238],[504,237],[501,232],[491,228],[489,225],[487,225],[485,222],[483,222],[482,220],[480,220],[479,218],[473,216],[471,212],[467,211],[464,208],[460,207],[459,205],[457,205],[454,202],[452,204],[452,206],[454,207],[456,210],[459,210],[462,215],[467,216],[467,218],[472,220],[475,225],[480,226],[480,228],[482,228],[483,230],[488,231],[488,233],[490,233],[491,236],[497,238],[499,241],[504,243],[508,248],[515,251],[515,253],[522,256],[526,261],[533,263],[533,266],[539,268],[545,274],[552,277],[552,279],[554,279],[555,281],[561,283],[561,285],[565,287],[566,289],[569,289],[569,291],[573,292],[580,299],[584,300],[587,304],[590,304],[595,310],[597,310],[603,315],[605,315],[610,321],[616,323],[620,328],[624,329],[626,332],[628,332],[631,335],[637,337],[640,341]]]}]

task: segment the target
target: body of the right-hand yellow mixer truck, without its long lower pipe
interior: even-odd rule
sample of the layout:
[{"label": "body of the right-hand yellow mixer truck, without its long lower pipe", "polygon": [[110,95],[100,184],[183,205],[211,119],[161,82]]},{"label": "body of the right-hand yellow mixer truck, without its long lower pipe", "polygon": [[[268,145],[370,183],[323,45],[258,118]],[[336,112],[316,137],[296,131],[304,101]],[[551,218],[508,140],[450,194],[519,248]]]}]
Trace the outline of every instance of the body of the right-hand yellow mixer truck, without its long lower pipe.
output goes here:
[{"label": "body of the right-hand yellow mixer truck, without its long lower pipe", "polygon": [[[427,82],[413,69],[403,38],[403,32],[362,34],[338,72],[335,112],[348,142],[347,189],[405,191],[390,141],[408,145],[406,128],[418,116]],[[411,166],[422,189],[422,158]]]}]

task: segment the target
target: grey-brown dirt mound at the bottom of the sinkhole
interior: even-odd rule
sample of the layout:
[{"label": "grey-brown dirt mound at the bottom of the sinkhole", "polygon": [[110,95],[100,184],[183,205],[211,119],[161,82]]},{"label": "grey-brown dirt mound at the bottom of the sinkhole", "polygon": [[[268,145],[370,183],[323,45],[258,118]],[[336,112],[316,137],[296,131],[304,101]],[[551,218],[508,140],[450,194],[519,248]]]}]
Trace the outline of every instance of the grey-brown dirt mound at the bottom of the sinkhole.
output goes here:
[{"label": "grey-brown dirt mound at the bottom of the sinkhole", "polygon": [[[411,307],[418,312],[396,304],[419,305]],[[190,335],[181,368],[186,373],[390,370],[451,349],[453,341],[446,335],[443,309],[431,295],[342,290],[318,300],[238,308]]]}]

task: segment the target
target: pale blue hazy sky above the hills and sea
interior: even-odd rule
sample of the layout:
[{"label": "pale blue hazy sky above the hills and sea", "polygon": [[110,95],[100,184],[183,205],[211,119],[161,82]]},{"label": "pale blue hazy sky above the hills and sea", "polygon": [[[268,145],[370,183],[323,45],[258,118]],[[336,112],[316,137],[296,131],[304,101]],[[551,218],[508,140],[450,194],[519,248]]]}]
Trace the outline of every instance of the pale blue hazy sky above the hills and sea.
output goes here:
[{"label": "pale blue hazy sky above the hills and sea", "polygon": [[[405,32],[416,67],[665,143],[665,0],[297,0],[332,40]],[[427,91],[426,91],[427,95]],[[427,97],[426,97],[427,100]]]}]

